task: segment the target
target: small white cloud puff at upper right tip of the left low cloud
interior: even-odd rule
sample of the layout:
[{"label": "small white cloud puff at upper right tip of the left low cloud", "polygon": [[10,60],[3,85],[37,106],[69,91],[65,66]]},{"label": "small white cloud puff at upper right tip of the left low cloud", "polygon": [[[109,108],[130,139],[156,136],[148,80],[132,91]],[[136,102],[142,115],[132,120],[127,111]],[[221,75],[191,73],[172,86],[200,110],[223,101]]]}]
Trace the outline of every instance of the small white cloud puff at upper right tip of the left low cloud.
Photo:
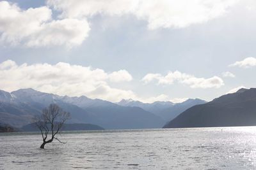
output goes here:
[{"label": "small white cloud puff at upper right tip of the left low cloud", "polygon": [[109,74],[109,80],[113,82],[119,81],[131,81],[132,76],[128,71],[121,69],[119,71],[114,71],[113,73]]}]

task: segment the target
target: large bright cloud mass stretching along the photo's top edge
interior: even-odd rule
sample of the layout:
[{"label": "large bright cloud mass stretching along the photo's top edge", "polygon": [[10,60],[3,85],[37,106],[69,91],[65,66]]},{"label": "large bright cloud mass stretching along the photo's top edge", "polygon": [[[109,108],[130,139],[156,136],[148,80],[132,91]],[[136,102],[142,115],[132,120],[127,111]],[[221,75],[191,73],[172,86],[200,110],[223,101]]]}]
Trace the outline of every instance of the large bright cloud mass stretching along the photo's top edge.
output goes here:
[{"label": "large bright cloud mass stretching along the photo's top edge", "polygon": [[[48,0],[45,6],[23,10],[0,1],[0,43],[72,48],[88,36],[93,15],[134,15],[146,20],[148,29],[183,28],[220,17],[234,4],[236,0]],[[60,15],[53,18],[56,11]]]}]

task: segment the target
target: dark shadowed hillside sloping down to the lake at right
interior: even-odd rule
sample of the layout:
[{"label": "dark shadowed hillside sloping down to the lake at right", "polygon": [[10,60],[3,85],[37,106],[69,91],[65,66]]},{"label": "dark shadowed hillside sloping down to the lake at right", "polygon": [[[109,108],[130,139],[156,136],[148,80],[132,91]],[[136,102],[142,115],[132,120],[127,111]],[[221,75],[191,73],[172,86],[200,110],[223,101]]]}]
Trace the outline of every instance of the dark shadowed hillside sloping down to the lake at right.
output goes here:
[{"label": "dark shadowed hillside sloping down to the lake at right", "polygon": [[256,89],[240,89],[234,94],[193,106],[164,128],[245,125],[256,125]]}]

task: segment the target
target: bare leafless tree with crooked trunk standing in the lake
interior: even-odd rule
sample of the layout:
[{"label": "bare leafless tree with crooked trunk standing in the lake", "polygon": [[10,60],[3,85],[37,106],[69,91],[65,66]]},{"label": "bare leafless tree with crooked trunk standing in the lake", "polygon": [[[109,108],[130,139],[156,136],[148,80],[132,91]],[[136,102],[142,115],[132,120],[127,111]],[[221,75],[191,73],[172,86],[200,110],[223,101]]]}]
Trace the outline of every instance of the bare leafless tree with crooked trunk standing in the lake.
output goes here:
[{"label": "bare leafless tree with crooked trunk standing in the lake", "polygon": [[57,104],[50,104],[42,110],[42,115],[35,118],[35,125],[41,131],[43,143],[40,148],[44,149],[45,144],[51,143],[54,139],[63,143],[56,137],[60,134],[61,127],[70,118],[70,113],[61,110]]}]

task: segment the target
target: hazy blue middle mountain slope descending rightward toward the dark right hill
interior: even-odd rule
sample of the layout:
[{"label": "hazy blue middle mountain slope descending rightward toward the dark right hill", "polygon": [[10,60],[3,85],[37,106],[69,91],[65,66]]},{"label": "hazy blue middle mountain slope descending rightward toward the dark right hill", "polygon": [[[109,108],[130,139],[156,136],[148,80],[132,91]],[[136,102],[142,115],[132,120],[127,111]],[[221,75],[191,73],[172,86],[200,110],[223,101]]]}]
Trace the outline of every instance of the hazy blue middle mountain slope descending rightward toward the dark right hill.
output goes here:
[{"label": "hazy blue middle mountain slope descending rightward toward the dark right hill", "polygon": [[88,97],[63,97],[66,103],[72,103],[97,117],[97,122],[106,129],[142,129],[163,127],[164,120],[153,113],[138,107],[119,106],[118,104]]}]

